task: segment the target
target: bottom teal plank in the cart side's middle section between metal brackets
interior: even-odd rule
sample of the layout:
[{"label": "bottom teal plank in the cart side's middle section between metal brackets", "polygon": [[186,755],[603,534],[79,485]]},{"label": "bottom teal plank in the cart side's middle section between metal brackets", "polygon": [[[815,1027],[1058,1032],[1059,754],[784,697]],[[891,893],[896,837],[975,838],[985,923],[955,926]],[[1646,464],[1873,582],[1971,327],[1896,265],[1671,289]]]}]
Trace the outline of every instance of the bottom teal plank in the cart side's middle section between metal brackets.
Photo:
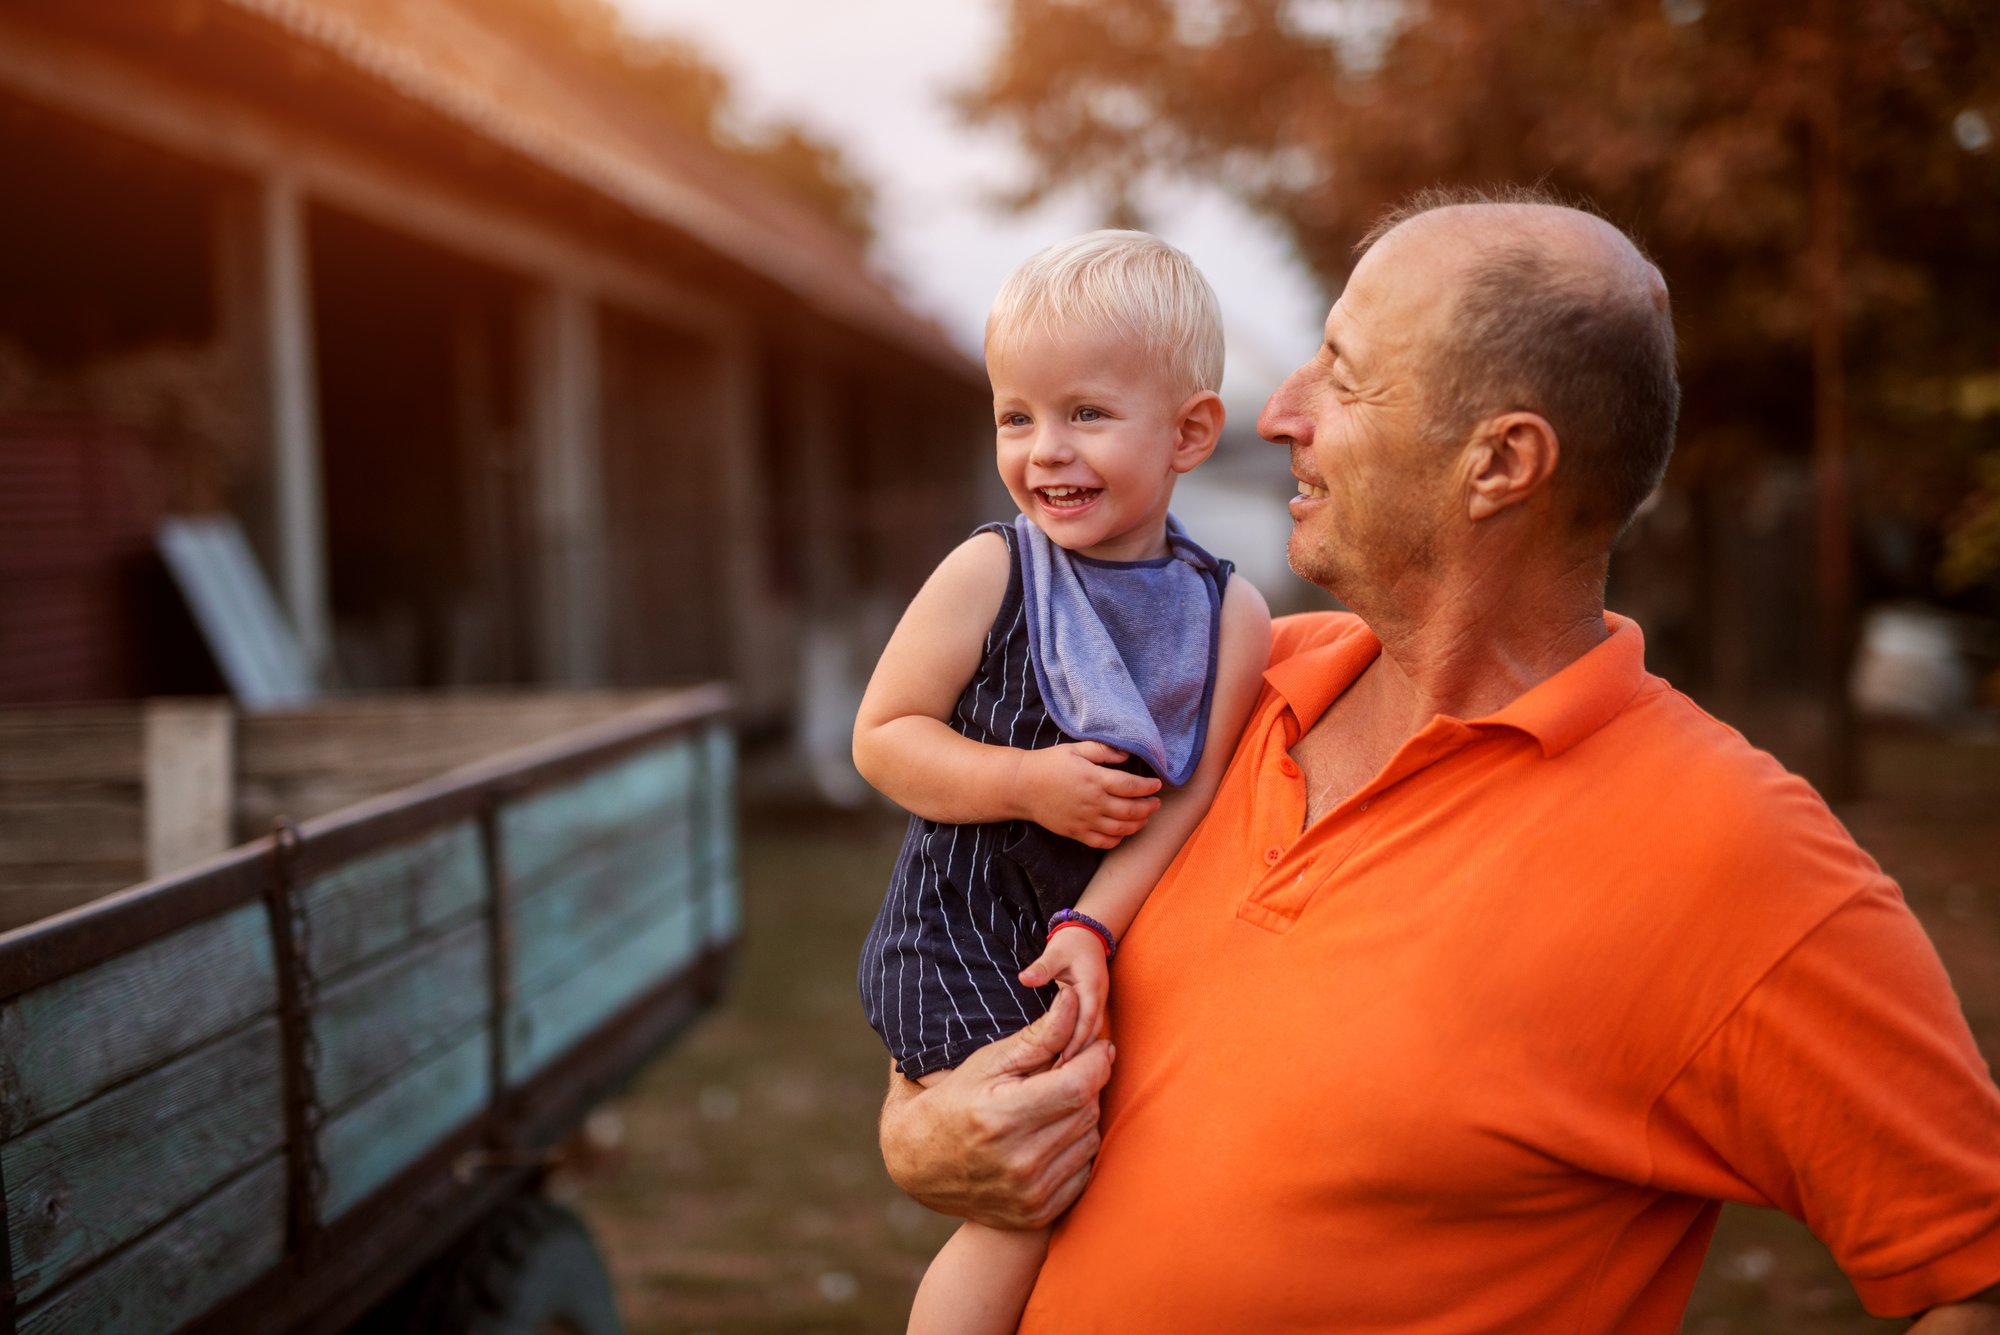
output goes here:
[{"label": "bottom teal plank in the cart side's middle section between metal brackets", "polygon": [[408,1067],[390,1085],[326,1123],[326,1219],[434,1149],[486,1107],[492,1091],[486,1031]]}]

